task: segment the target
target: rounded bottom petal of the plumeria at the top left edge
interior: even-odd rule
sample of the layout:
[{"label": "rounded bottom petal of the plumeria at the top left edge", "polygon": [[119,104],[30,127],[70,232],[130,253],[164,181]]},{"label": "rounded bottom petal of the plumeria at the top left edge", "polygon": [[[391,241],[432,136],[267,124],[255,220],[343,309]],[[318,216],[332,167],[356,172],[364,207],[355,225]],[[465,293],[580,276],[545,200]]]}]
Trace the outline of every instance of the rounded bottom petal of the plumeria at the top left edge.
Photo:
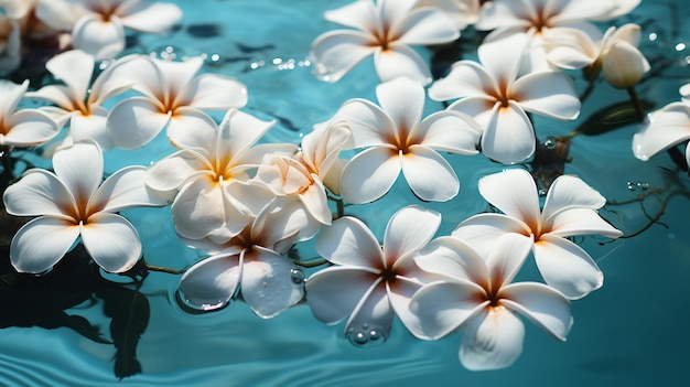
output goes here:
[{"label": "rounded bottom petal of the plumeria at the top left edge", "polygon": [[125,29],[119,18],[104,20],[100,14],[82,17],[72,30],[75,49],[99,60],[109,60],[125,50]]}]

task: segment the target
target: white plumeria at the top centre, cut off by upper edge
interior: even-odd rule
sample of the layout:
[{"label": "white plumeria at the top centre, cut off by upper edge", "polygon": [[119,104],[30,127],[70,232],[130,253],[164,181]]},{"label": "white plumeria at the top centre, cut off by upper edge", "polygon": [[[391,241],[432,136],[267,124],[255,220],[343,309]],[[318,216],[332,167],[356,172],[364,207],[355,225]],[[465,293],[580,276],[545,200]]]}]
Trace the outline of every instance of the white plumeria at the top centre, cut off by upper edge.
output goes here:
[{"label": "white plumeria at the top centre, cut off by upper edge", "polygon": [[429,66],[410,45],[452,42],[460,32],[450,17],[434,8],[416,8],[417,2],[379,0],[375,4],[373,0],[357,0],[326,12],[326,20],[356,30],[330,31],[316,37],[311,56],[317,75],[337,82],[374,55],[381,82],[407,76],[429,84]]}]

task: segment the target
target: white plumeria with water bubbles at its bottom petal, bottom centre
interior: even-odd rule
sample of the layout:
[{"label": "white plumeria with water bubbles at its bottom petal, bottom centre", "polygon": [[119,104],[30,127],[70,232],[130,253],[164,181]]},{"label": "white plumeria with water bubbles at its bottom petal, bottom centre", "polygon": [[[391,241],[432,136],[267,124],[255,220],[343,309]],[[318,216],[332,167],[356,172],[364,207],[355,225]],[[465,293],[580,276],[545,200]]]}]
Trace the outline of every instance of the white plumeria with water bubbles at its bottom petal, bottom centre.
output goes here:
[{"label": "white plumeria with water bubbles at its bottom petal, bottom centre", "polygon": [[429,338],[408,307],[423,283],[440,279],[413,260],[440,223],[441,215],[433,211],[405,207],[388,222],[380,246],[362,221],[349,216],[334,221],[316,237],[316,251],[335,266],[306,280],[306,302],[314,316],[336,324],[349,315],[346,335],[366,330],[387,336],[395,313],[414,336]]}]

